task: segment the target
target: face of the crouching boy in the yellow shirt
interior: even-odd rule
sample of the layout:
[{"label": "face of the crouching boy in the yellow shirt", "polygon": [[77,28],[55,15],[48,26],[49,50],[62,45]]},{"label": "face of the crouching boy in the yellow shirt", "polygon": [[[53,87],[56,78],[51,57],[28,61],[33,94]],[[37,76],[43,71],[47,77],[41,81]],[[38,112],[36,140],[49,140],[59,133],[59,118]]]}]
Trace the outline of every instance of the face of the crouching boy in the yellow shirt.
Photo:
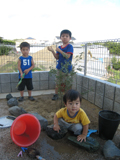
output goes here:
[{"label": "face of the crouching boy in the yellow shirt", "polygon": [[80,99],[79,97],[74,101],[67,101],[67,104],[65,105],[68,109],[68,112],[70,115],[74,115],[80,108]]}]

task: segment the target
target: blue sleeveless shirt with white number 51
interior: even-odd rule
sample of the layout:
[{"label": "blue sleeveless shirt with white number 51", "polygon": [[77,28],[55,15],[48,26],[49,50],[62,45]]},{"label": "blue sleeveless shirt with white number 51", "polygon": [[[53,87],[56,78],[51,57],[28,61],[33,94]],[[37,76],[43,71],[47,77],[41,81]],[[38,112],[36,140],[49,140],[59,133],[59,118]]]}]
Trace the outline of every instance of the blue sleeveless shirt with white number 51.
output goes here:
[{"label": "blue sleeveless shirt with white number 51", "polygon": [[[21,61],[21,70],[24,73],[24,70],[30,68],[32,66],[32,56],[28,56],[28,57],[19,57],[20,61]],[[19,79],[20,79],[20,73],[19,73]],[[25,75],[24,77],[25,79],[27,78],[32,78],[32,71],[30,70],[28,72],[28,74]]]}]

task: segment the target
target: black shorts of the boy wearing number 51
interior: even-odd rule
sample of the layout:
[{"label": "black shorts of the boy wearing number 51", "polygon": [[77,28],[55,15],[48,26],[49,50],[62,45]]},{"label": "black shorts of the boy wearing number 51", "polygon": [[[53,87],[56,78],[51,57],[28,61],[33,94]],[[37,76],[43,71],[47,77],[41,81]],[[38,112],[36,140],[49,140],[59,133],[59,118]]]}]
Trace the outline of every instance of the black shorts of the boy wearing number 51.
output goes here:
[{"label": "black shorts of the boy wearing number 51", "polygon": [[25,86],[27,87],[27,90],[29,91],[33,89],[32,78],[23,79],[22,83],[18,86],[18,90],[23,91],[25,89]]}]

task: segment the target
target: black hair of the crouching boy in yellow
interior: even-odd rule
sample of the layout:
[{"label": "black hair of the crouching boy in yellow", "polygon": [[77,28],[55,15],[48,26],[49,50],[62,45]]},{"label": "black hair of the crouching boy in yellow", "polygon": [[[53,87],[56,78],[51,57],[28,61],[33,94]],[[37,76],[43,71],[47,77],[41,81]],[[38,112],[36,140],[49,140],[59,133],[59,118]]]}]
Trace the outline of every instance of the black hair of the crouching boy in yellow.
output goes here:
[{"label": "black hair of the crouching boy in yellow", "polygon": [[70,100],[71,102],[76,100],[79,97],[80,102],[82,101],[82,96],[76,90],[70,89],[68,90],[63,96],[63,102],[67,104],[67,101]]}]

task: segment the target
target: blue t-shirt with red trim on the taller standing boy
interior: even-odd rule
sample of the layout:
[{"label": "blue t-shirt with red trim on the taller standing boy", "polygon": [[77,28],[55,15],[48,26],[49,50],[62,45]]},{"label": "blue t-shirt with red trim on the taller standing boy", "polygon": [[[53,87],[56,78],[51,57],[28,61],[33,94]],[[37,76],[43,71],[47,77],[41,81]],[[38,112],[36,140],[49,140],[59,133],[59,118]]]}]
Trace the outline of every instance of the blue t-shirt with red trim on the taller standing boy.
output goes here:
[{"label": "blue t-shirt with red trim on the taller standing boy", "polygon": [[[65,53],[70,53],[71,55],[68,59],[66,59],[65,57],[63,57],[63,55],[61,53],[56,52],[56,54],[59,54],[59,60],[57,61],[58,64],[57,64],[56,68],[61,69],[62,64],[64,65],[66,62],[69,62],[68,72],[70,72],[72,70],[71,63],[72,63],[72,58],[73,58],[73,46],[71,44],[67,44],[65,47],[59,46],[58,48],[60,48]],[[65,72],[65,70],[62,69],[62,72]]]}]

